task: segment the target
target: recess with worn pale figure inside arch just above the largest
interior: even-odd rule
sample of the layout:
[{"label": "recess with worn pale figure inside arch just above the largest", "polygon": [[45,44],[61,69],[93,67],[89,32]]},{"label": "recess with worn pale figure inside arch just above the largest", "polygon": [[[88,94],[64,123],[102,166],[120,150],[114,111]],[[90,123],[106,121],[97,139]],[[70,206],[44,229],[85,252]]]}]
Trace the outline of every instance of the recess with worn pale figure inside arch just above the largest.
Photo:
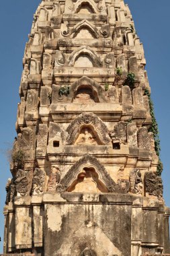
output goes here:
[{"label": "recess with worn pale figure inside arch just above the largest", "polygon": [[75,141],[76,145],[96,145],[97,140],[95,135],[93,134],[93,131],[91,129],[85,127],[81,129],[81,132],[79,134],[79,137],[77,138],[77,141]]}]

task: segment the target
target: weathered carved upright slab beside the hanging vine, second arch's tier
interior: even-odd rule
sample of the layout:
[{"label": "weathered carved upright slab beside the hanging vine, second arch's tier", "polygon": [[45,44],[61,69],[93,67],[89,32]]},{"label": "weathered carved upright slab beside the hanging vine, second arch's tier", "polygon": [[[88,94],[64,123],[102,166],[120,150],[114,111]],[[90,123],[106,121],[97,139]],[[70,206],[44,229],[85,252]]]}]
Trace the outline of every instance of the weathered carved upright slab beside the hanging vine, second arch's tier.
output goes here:
[{"label": "weathered carved upright slab beside the hanging vine, second arch's tier", "polygon": [[138,129],[138,148],[142,150],[151,150],[150,138],[146,127]]}]

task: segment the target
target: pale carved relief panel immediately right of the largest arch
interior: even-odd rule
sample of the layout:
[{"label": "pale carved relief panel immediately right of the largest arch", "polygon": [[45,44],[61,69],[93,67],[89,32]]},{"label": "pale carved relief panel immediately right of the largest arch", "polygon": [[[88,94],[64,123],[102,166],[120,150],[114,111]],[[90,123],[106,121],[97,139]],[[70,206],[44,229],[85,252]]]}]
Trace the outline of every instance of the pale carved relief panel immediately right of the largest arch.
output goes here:
[{"label": "pale carved relief panel immediately right of the largest arch", "polygon": [[141,178],[141,172],[139,169],[134,169],[130,172],[130,191],[134,194],[141,195],[143,189],[143,183]]}]

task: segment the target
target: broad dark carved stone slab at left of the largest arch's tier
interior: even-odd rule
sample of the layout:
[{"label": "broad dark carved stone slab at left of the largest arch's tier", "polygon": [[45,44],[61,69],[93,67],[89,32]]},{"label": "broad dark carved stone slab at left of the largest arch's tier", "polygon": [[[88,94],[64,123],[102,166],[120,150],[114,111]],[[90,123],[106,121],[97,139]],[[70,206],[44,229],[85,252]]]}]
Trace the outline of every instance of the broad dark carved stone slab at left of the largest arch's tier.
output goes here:
[{"label": "broad dark carved stone slab at left of the largest arch's tier", "polygon": [[30,195],[30,190],[32,187],[32,174],[26,170],[17,170],[15,185],[17,196],[23,197],[25,195]]}]

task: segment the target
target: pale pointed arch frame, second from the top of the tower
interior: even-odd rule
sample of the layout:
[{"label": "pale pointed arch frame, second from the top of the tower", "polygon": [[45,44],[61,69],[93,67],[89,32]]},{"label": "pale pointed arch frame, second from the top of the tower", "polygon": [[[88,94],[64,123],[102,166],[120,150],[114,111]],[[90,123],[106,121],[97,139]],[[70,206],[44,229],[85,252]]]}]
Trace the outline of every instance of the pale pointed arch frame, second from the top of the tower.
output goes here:
[{"label": "pale pointed arch frame, second from the top of the tower", "polygon": [[81,30],[81,28],[87,28],[91,34],[93,34],[94,38],[99,38],[99,31],[93,24],[88,22],[87,20],[82,20],[78,24],[76,24],[71,30],[71,37],[75,38],[77,32]]}]

